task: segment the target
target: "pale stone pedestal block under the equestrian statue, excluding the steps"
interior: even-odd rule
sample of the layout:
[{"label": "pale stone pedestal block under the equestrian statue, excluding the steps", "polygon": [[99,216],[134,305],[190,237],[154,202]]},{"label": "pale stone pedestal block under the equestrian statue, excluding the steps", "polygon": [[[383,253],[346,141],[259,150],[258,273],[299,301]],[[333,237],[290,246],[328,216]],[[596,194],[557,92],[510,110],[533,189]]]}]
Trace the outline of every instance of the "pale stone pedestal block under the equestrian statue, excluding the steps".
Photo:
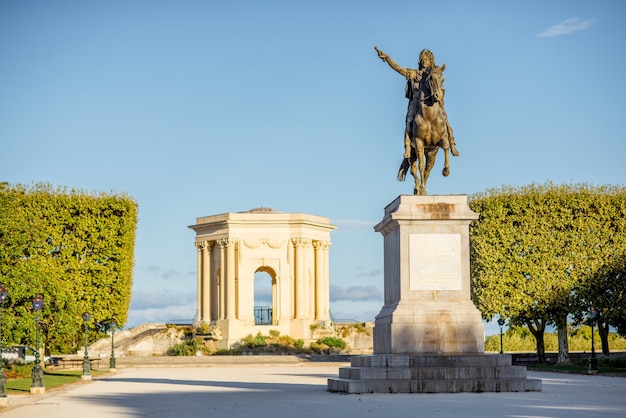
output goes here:
[{"label": "pale stone pedestal block under the equestrian statue, excluding the steps", "polygon": [[375,230],[384,236],[385,305],[375,354],[482,353],[484,327],[470,299],[465,195],[400,196]]}]

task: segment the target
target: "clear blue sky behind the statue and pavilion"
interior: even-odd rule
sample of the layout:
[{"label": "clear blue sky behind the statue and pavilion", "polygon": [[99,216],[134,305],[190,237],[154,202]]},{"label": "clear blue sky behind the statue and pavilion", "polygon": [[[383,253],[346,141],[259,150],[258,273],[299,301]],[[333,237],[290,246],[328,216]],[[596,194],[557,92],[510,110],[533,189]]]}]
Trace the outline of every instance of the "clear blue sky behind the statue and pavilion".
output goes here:
[{"label": "clear blue sky behind the statue and pavilion", "polygon": [[330,218],[331,312],[373,320],[373,226],[412,193],[405,81],[374,45],[446,64],[461,156],[429,193],[623,184],[625,20],[621,1],[4,0],[0,180],[137,200],[128,326],[192,318],[187,226],[259,206]]}]

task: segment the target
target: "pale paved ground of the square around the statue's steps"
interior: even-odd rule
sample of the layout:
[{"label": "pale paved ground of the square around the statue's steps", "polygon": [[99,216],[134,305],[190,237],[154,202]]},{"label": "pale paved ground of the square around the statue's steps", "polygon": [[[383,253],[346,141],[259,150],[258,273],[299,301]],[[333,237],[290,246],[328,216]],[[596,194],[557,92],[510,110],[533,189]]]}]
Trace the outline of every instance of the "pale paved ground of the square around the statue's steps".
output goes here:
[{"label": "pale paved ground of the square around the statue's steps", "polygon": [[542,392],[327,392],[327,379],[336,377],[339,367],[347,365],[286,357],[126,362],[118,365],[117,373],[48,390],[43,395],[9,395],[9,406],[0,410],[0,416],[626,417],[624,377],[529,372],[529,377],[542,379]]}]

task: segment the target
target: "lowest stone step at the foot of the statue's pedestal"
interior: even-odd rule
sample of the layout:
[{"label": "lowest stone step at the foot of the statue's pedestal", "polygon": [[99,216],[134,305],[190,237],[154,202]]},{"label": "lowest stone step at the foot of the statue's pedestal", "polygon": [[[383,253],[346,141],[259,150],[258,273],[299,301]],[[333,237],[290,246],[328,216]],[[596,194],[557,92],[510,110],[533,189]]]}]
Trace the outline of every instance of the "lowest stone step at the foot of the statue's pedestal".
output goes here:
[{"label": "lowest stone step at the foot of the statue's pedestal", "polygon": [[341,393],[458,393],[541,391],[538,379],[351,380],[328,379],[328,390]]}]

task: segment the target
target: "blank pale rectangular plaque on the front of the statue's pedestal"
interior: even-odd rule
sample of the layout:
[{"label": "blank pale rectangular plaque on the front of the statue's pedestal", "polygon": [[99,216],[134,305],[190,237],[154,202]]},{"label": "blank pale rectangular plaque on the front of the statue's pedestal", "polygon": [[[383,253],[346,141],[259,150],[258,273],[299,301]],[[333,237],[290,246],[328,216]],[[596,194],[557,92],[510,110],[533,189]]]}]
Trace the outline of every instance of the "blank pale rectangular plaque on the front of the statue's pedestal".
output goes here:
[{"label": "blank pale rectangular plaque on the front of the statue's pedestal", "polygon": [[410,290],[461,290],[461,235],[409,235]]}]

